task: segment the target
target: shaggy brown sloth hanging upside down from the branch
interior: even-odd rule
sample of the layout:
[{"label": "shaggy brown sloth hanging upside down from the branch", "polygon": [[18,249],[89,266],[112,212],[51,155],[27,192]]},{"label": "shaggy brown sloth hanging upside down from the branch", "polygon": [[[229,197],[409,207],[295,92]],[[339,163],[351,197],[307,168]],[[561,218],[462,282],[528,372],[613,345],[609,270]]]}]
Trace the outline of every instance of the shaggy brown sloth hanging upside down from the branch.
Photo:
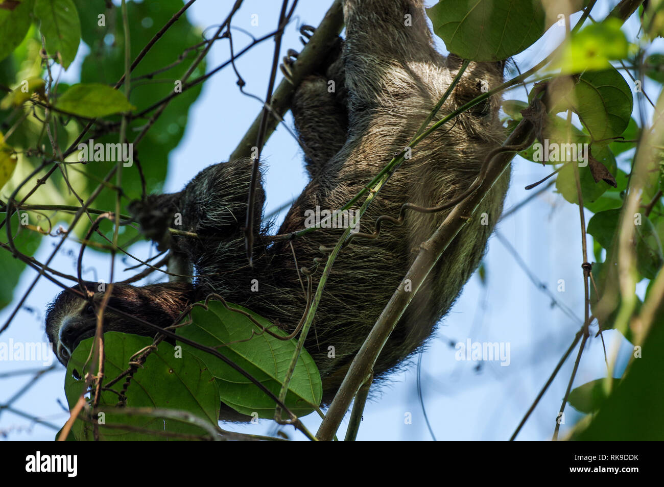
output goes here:
[{"label": "shaggy brown sloth hanging upside down from the branch", "polygon": [[[280,234],[303,228],[306,210],[319,206],[334,211],[355,196],[404,149],[461,66],[456,56],[445,58],[434,49],[422,0],[345,0],[343,11],[346,39],[339,58],[306,78],[291,105],[311,180],[290,208]],[[479,96],[482,86],[498,86],[502,72],[502,63],[471,63],[436,119]],[[336,92],[328,92],[328,80],[335,80]],[[398,216],[405,202],[437,206],[467,190],[485,156],[501,140],[498,108],[495,98],[475,105],[417,145],[361,218],[361,230],[373,232],[378,216]],[[248,265],[242,227],[251,167],[248,159],[216,164],[179,193],[149,196],[135,204],[132,209],[146,234],[192,263],[197,277],[193,284],[118,285],[109,305],[166,326],[187,303],[218,293],[291,332],[306,304],[291,243],[297,263],[308,267],[322,256],[319,247],[333,245],[341,230],[316,230],[272,243],[266,229],[259,228],[264,204],[259,182],[254,261],[253,267]],[[448,311],[479,264],[501,214],[508,179],[504,174],[477,210],[488,214],[488,224],[473,219],[438,261],[378,357],[376,376],[422,345]],[[403,226],[384,225],[377,240],[355,240],[335,261],[305,343],[323,378],[323,404],[331,401],[420,243],[449,211],[407,212]],[[181,214],[182,226],[175,226],[175,214]],[[197,237],[181,233],[168,238],[167,226]],[[253,279],[258,280],[256,292]],[[63,364],[82,338],[94,334],[94,314],[90,302],[66,291],[50,306],[46,331]],[[105,316],[106,331],[153,334],[112,311]],[[334,347],[333,358],[328,357],[329,346]]]}]

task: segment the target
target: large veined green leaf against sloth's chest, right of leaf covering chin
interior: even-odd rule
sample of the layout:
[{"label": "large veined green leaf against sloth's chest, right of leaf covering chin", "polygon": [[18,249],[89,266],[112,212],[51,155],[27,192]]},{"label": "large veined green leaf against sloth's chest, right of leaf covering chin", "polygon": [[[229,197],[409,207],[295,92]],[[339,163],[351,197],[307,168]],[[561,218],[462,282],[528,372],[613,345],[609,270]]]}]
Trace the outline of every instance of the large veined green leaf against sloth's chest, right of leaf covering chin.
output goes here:
[{"label": "large veined green leaf against sloth's chest, right of leaf covering chin", "polygon": [[[250,313],[262,326],[280,336],[286,336],[279,328],[256,313],[240,306],[233,308]],[[208,303],[209,311],[195,307],[191,311],[193,322],[177,328],[177,334],[190,340],[218,347],[220,354],[252,374],[274,395],[279,395],[281,385],[295,350],[295,340],[279,340],[263,332],[249,318],[228,311],[218,301]],[[217,378],[221,400],[236,411],[260,417],[272,418],[275,404],[268,395],[258,389],[248,378],[207,352],[191,346],[183,351],[201,358],[212,375]],[[286,406],[297,415],[311,413],[322,397],[321,378],[315,362],[306,350],[302,350],[286,395]]]}]

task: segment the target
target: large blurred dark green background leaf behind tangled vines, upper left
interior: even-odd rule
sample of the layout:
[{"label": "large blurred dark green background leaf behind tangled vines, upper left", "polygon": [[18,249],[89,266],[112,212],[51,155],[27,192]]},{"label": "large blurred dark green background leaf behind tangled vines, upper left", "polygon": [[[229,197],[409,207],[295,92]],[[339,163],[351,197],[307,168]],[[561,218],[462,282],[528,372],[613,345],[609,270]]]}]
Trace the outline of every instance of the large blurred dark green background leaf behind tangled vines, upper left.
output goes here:
[{"label": "large blurred dark green background leaf behind tangled vines, upper left", "polygon": [[[114,86],[124,74],[125,33],[119,15],[120,9],[110,10],[106,17],[106,26],[100,26],[97,22],[100,7],[96,2],[75,0],[75,3],[80,19],[82,19],[82,38],[90,46],[90,53],[85,56],[81,66],[80,81]],[[138,56],[143,46],[173,17],[173,13],[182,8],[182,5],[182,0],[127,2],[129,19],[139,19],[129,22],[129,38],[131,39],[129,57],[131,59]],[[90,19],[90,21],[85,19]],[[113,36],[114,42],[105,42],[108,41],[110,35]],[[155,46],[145,54],[131,73],[133,77],[149,75],[151,80],[151,82],[132,84],[129,103],[135,105],[137,111],[142,111],[172,94],[173,81],[182,79],[183,74],[191,66],[191,61],[197,56],[197,52],[191,50],[191,46],[200,42],[202,35],[201,29],[192,25],[187,16],[183,15],[159,39],[159,46],[168,46],[168,48]],[[179,62],[179,55],[183,52],[188,53],[187,57],[185,62]],[[171,68],[163,71],[164,66],[171,66]],[[205,74],[205,62],[197,66],[189,80],[203,74]],[[189,109],[197,100],[203,85],[204,83],[199,83],[173,98],[168,109],[161,113],[145,137],[141,139],[140,146],[135,148],[143,154],[139,162],[145,177],[147,193],[162,192],[169,152],[175,149],[181,141],[185,133]],[[144,125],[145,119],[135,119],[129,123],[127,133],[138,133]],[[95,142],[117,143],[118,136],[110,134],[95,137]],[[85,198],[85,195],[90,194],[98,184],[94,178],[104,178],[109,168],[103,164],[88,164],[82,169],[89,176],[86,190],[82,192],[82,197]],[[127,201],[141,198],[143,188],[138,165],[125,167],[122,174],[122,189],[127,196]],[[63,190],[63,193],[66,193],[66,189]],[[117,194],[114,190],[104,189],[95,199],[94,204],[98,208],[113,208],[116,197]],[[137,237],[133,228],[125,227],[125,229],[125,242]],[[84,226],[77,226],[76,234],[82,237],[85,230]]]}]

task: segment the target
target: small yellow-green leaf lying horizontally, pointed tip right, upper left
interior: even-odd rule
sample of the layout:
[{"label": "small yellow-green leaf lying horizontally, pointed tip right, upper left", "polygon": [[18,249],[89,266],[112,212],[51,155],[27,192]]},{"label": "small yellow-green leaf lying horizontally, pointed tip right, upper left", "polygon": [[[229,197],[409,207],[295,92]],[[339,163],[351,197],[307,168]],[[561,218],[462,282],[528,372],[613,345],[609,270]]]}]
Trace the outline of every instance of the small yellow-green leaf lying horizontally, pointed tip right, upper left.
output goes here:
[{"label": "small yellow-green leaf lying horizontally, pointed tip right, upper left", "polygon": [[135,109],[121,92],[100,83],[79,83],[70,86],[55,106],[68,113],[90,118],[105,117]]}]

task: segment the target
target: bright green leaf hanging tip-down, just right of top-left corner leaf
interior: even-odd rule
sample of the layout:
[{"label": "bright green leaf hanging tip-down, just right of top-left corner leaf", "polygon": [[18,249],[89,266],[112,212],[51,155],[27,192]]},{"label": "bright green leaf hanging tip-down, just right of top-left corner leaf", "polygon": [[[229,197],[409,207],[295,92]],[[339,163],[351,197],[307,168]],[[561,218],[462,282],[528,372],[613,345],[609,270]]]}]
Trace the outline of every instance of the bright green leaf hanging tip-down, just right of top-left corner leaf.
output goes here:
[{"label": "bright green leaf hanging tip-down, just right of top-left corner leaf", "polygon": [[76,57],[81,39],[76,5],[72,0],[36,0],[35,17],[46,40],[46,52],[67,69]]}]

